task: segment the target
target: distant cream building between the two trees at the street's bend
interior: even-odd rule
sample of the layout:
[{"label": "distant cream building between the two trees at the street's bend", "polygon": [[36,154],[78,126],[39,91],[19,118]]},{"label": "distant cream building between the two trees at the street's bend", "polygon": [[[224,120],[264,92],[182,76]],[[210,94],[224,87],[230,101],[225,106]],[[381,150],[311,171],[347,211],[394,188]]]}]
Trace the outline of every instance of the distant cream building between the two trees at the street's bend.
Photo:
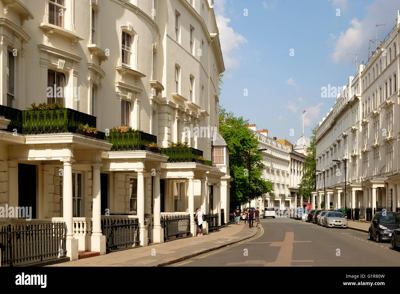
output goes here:
[{"label": "distant cream building between the two trees at the street's bend", "polygon": [[[306,156],[292,149],[293,146],[287,140],[276,140],[268,136],[268,130],[257,130],[255,124],[247,126],[248,130],[258,137],[258,148],[266,148],[262,151],[263,163],[266,166],[263,177],[272,182],[273,194],[265,194],[263,197],[252,200],[252,207],[297,207],[300,204],[298,198],[299,184],[302,178],[303,162]],[[247,207],[248,204],[244,204]]]}]

